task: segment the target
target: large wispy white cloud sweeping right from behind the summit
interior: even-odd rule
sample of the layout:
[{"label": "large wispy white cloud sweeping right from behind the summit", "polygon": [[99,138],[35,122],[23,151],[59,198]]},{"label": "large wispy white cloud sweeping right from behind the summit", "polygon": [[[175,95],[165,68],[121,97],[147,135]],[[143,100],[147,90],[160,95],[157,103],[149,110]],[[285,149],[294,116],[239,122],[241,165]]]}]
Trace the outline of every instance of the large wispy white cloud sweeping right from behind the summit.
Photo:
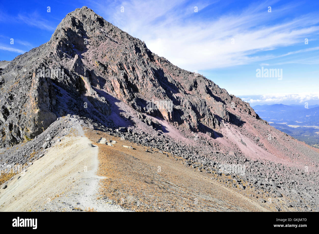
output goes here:
[{"label": "large wispy white cloud sweeping right from behind the summit", "polygon": [[[173,64],[194,71],[307,53],[307,50],[292,50],[282,54],[275,51],[282,47],[302,45],[308,35],[318,34],[318,15],[305,14],[293,19],[282,19],[297,9],[298,3],[286,4],[273,8],[271,13],[267,12],[267,7],[276,2],[251,4],[237,11],[221,13],[218,17],[202,16],[207,7],[215,3],[220,7],[223,4],[221,1],[189,3],[137,0],[116,1],[107,6],[92,1],[91,4],[98,6],[113,24],[145,41],[153,52],[166,57]],[[121,6],[124,12],[120,11]],[[198,12],[194,12],[195,6]],[[280,20],[277,22],[276,19]]]}]

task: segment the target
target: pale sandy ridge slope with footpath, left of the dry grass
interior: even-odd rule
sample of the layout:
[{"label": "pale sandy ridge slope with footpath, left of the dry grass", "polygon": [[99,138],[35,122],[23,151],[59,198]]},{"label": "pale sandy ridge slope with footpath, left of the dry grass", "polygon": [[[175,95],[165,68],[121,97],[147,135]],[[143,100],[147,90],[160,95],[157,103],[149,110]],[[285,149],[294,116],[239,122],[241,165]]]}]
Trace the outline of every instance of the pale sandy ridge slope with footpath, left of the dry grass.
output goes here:
[{"label": "pale sandy ridge slope with footpath, left of the dry grass", "polygon": [[71,132],[1,189],[0,211],[123,210],[97,200],[98,147],[88,146],[81,126]]}]

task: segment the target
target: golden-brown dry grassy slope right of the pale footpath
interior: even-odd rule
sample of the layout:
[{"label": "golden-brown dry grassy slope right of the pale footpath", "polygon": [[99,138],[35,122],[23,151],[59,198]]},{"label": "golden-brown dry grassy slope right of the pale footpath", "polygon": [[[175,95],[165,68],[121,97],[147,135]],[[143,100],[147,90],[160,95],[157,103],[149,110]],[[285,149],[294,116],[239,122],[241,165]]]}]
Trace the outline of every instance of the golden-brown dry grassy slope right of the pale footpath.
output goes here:
[{"label": "golden-brown dry grassy slope right of the pale footpath", "polygon": [[[108,133],[86,129],[99,147],[100,197],[135,211],[261,211],[263,208],[230,189],[216,185],[208,174],[185,167],[179,157],[137,145]],[[97,143],[116,140],[114,147]],[[122,147],[132,146],[134,149]]]}]

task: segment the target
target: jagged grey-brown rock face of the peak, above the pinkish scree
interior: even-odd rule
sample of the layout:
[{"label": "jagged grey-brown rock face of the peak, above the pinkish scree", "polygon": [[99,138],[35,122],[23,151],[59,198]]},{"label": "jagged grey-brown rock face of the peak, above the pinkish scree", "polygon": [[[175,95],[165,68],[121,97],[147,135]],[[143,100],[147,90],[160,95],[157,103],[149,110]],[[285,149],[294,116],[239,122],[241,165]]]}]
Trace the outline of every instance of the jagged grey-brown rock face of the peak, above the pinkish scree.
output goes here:
[{"label": "jagged grey-brown rock face of the peak, above the pinkish scree", "polygon": [[69,13],[49,42],[0,72],[1,146],[33,139],[69,113],[94,115],[103,123],[110,114],[109,94],[139,112],[212,137],[222,121],[243,124],[234,106],[259,119],[248,103],[155,55],[87,7]]}]

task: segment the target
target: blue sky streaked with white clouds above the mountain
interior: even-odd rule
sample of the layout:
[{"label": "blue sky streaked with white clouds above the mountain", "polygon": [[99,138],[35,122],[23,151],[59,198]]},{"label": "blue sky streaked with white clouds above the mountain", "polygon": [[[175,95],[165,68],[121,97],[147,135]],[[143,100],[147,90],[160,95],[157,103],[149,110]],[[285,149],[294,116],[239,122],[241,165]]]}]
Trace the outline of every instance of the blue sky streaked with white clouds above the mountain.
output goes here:
[{"label": "blue sky streaked with white clouds above the mountain", "polygon": [[[48,42],[65,15],[84,5],[252,106],[319,104],[317,0],[2,1],[0,60]],[[282,79],[256,77],[262,67],[282,69]]]}]

